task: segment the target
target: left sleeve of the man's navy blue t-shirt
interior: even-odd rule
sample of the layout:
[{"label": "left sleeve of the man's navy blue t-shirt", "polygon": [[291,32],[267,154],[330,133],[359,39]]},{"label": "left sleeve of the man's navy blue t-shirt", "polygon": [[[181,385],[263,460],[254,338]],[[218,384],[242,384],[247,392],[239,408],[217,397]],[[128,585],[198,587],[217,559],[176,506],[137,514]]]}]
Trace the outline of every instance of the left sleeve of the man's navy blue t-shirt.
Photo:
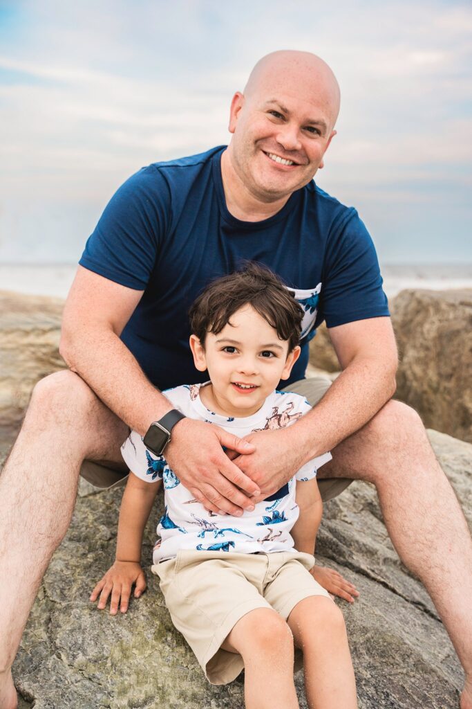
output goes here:
[{"label": "left sleeve of the man's navy blue t-shirt", "polygon": [[154,166],[122,184],[88,238],[79,264],[142,291],[149,281],[171,214],[166,180]]}]

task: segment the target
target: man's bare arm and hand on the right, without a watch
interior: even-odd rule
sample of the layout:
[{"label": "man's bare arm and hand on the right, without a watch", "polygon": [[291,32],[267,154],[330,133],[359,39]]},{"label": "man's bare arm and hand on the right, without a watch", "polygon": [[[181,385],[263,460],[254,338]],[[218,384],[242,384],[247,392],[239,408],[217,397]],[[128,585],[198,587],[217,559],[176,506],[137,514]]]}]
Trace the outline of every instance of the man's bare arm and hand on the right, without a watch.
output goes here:
[{"label": "man's bare arm and hand on the right, without a watch", "polygon": [[280,489],[309,459],[362,428],[395,392],[398,359],[390,318],[357,320],[329,333],[343,372],[326,395],[294,425],[247,436],[255,452],[235,459],[259,484],[260,499]]}]

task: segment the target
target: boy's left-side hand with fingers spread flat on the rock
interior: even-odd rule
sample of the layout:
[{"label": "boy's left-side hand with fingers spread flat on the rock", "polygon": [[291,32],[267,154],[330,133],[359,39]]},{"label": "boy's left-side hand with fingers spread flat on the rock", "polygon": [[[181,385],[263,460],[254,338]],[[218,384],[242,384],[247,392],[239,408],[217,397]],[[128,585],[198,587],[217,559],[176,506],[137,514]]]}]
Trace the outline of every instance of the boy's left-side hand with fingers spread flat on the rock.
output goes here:
[{"label": "boy's left-side hand with fingers spread flat on the rock", "polygon": [[141,565],[137,562],[115,562],[108,569],[103,579],[98,581],[98,584],[92,591],[91,601],[96,601],[100,593],[100,601],[97,608],[103,610],[107,605],[108,596],[111,593],[110,613],[116,615],[118,605],[122,613],[128,610],[129,596],[131,595],[132,585],[134,588],[134,598],[139,598],[146,588],[146,577]]}]

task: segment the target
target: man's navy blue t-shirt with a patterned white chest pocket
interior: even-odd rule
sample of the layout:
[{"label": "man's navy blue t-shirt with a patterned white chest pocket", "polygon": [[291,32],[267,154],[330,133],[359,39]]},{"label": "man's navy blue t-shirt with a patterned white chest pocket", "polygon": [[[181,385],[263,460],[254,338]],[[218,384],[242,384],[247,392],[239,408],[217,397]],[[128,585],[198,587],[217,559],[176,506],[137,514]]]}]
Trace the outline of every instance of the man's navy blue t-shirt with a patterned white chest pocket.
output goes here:
[{"label": "man's navy blue t-shirt with a patterned white chest pocket", "polygon": [[221,182],[224,149],[154,163],[130,177],[79,262],[144,291],[121,337],[159,389],[207,379],[190,354],[188,309],[210,280],[247,259],[270,267],[304,307],[301,357],[289,381],[304,377],[308,342],[323,320],[333,328],[388,316],[374,245],[355,209],[310,182],[274,216],[236,219]]}]

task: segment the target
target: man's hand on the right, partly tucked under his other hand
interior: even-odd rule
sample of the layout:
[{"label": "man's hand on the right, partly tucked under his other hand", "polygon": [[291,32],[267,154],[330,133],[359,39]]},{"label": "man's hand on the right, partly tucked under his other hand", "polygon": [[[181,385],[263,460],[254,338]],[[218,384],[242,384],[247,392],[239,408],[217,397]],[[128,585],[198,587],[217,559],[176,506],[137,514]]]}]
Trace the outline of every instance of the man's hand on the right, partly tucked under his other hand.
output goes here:
[{"label": "man's hand on the right, partly tucked under his other hand", "polygon": [[297,426],[273,431],[257,431],[244,437],[255,450],[234,457],[234,463],[260,487],[254,502],[265,500],[280,490],[306,462],[299,445]]}]

